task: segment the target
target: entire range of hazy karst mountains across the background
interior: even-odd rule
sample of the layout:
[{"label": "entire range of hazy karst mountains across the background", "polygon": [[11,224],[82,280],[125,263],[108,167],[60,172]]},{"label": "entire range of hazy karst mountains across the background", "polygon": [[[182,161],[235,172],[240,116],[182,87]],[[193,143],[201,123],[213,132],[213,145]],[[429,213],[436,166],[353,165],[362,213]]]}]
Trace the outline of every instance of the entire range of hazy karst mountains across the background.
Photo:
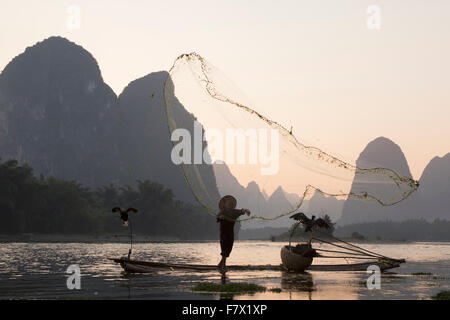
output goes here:
[{"label": "entire range of hazy karst mountains across the background", "polygon": [[[166,78],[166,71],[150,73],[130,82],[117,97],[103,81],[95,58],[81,46],[50,37],[28,47],[0,74],[0,158],[18,159],[37,174],[90,187],[149,179],[171,188],[177,199],[194,202],[181,169],[170,160],[162,93]],[[183,108],[179,103],[177,107]],[[192,119],[186,112],[186,121]],[[385,137],[371,141],[356,163],[411,177],[401,148]],[[254,181],[244,187],[226,165],[201,170],[214,198],[233,194],[240,207],[258,215],[293,209],[301,199],[281,186],[270,196]],[[329,214],[340,224],[450,219],[450,153],[433,158],[419,182],[416,192],[394,206],[344,202],[316,193],[302,208]],[[254,220],[244,227],[291,224],[285,217],[272,224]]]}]

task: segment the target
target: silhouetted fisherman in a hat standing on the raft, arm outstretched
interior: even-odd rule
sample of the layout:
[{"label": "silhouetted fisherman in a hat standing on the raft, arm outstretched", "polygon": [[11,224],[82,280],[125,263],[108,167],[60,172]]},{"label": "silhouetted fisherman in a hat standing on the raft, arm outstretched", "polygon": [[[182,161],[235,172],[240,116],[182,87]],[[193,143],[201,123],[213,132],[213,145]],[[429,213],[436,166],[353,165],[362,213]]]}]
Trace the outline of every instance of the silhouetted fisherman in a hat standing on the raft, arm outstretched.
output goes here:
[{"label": "silhouetted fisherman in a hat standing on the raft, arm outstretched", "polygon": [[220,223],[220,248],[222,259],[218,267],[222,273],[226,271],[227,258],[230,256],[234,244],[234,224],[236,219],[241,215],[250,216],[248,209],[236,209],[236,198],[231,195],[226,195],[219,201],[219,215],[217,222]]}]

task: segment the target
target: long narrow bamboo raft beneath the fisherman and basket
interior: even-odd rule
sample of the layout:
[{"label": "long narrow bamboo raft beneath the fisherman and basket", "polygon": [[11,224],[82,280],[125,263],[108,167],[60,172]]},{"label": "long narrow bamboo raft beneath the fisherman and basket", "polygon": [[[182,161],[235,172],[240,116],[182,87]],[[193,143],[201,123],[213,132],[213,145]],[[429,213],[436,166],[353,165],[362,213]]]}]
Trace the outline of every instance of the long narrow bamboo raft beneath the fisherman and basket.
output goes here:
[{"label": "long narrow bamboo raft beneath the fisherman and basket", "polygon": [[[186,271],[217,271],[219,270],[215,265],[202,264],[178,264],[178,263],[164,263],[154,261],[139,261],[132,260],[126,257],[110,258],[129,273],[152,273],[160,270],[186,270]],[[381,271],[397,268],[400,263],[405,260],[383,260],[368,261],[363,263],[353,264],[318,264],[310,265],[305,271],[366,271],[371,265],[377,265]],[[287,271],[282,265],[230,265],[227,266],[229,271]]]}]

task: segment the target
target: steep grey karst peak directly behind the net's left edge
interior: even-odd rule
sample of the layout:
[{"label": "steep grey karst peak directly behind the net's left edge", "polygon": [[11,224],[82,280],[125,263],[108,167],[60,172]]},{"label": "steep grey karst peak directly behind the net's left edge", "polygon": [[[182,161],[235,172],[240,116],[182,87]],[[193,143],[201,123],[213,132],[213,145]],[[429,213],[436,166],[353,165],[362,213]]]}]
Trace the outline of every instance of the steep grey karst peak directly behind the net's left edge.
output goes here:
[{"label": "steep grey karst peak directly behind the net's left edge", "polygon": [[[137,179],[159,182],[173,190],[178,199],[194,202],[181,167],[171,159],[172,142],[167,126],[164,102],[166,71],[150,73],[132,81],[118,98],[120,132],[118,145],[124,175],[122,181],[134,184]],[[185,129],[193,132],[194,117],[173,97],[184,116]],[[203,146],[206,148],[206,142]],[[214,198],[219,198],[215,175],[210,165],[198,165],[204,182]]]}]

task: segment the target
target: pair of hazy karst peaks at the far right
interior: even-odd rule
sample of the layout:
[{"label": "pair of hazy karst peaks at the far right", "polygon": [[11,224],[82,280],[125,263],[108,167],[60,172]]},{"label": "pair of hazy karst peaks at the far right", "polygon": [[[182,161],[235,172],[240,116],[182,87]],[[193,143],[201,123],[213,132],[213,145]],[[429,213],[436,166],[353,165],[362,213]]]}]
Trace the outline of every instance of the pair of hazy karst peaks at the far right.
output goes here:
[{"label": "pair of hazy karst peaks at the far right", "polygon": [[[400,147],[387,138],[370,142],[357,160],[360,168],[382,167],[411,177]],[[353,182],[354,185],[357,182]],[[353,188],[353,186],[352,186]],[[340,225],[408,219],[450,219],[450,153],[435,157],[419,179],[419,188],[407,199],[392,206],[381,206],[355,199],[344,203]]]}]

